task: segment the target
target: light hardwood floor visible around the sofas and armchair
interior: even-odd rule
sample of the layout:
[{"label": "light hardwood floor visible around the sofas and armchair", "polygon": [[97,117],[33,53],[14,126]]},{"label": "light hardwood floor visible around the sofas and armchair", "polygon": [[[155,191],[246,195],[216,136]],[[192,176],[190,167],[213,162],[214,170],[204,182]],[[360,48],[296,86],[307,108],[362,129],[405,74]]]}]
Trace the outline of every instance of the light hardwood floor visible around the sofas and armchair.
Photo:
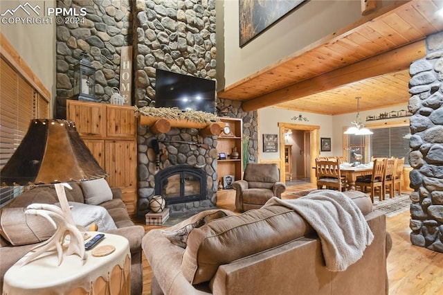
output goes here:
[{"label": "light hardwood floor visible around the sofas and armchair", "polygon": [[[282,198],[290,199],[289,193],[309,188],[315,186],[306,184],[288,187]],[[232,197],[219,198],[217,206],[233,211],[234,201]],[[387,218],[388,232],[392,237],[392,250],[387,262],[389,294],[443,294],[443,253],[413,246],[409,240],[409,220],[409,211]],[[146,231],[159,227],[144,226]],[[145,256],[143,256],[143,278],[143,295],[150,295],[152,270]]]}]

